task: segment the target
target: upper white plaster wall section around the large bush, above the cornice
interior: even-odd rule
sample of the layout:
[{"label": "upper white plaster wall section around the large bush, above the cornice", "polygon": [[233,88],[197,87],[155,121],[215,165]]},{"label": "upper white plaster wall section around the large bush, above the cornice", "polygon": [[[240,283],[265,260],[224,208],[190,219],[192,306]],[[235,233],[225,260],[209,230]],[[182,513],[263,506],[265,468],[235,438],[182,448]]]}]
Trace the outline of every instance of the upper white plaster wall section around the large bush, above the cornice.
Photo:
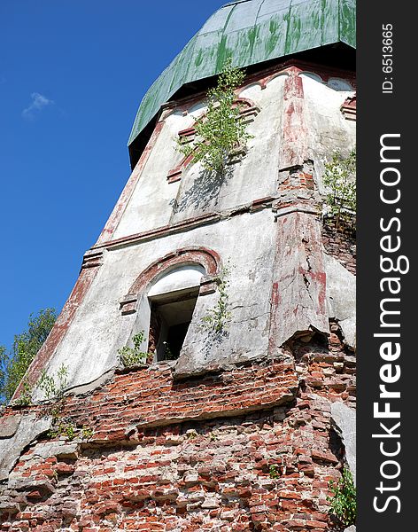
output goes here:
[{"label": "upper white plaster wall section around the large bush, above the cornice", "polygon": [[168,183],[166,176],[182,160],[175,149],[179,131],[193,126],[205,113],[205,106],[195,105],[186,116],[181,111],[170,114],[159,134],[150,158],[143,168],[135,191],[113,234],[120,239],[150,231],[168,223],[178,223],[205,213],[228,210],[275,193],[283,110],[284,76],[278,76],[261,90],[253,84],[240,93],[259,107],[259,114],[248,126],[253,138],[244,159],[230,165],[231,176],[199,179],[202,168],[190,165],[182,179]]}]

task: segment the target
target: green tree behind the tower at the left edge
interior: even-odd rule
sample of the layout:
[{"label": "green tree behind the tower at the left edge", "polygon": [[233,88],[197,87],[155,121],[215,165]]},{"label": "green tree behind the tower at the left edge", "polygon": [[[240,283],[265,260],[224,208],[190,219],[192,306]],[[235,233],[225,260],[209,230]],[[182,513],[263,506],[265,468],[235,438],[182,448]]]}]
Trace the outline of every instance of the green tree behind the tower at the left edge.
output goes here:
[{"label": "green tree behind the tower at the left edge", "polygon": [[27,330],[15,335],[12,348],[8,351],[0,346],[0,403],[11,400],[56,319],[55,309],[43,309],[36,315],[31,314]]}]

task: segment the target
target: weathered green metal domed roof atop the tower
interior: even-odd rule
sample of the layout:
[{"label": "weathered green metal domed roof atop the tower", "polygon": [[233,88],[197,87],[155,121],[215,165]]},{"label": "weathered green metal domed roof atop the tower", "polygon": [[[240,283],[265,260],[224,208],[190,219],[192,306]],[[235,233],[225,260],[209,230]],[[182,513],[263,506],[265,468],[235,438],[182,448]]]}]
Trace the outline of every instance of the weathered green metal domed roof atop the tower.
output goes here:
[{"label": "weathered green metal domed roof atop the tower", "polygon": [[228,56],[250,66],[327,44],[355,48],[356,0],[241,0],[225,4],[143,97],[128,145],[184,84],[221,72]]}]

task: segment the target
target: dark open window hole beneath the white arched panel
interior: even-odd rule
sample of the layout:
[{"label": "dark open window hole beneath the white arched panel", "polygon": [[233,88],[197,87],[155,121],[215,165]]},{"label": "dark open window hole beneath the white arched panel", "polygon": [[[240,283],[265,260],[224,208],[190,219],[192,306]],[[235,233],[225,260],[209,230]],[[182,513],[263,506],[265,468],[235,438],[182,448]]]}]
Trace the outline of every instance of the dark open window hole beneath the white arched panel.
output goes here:
[{"label": "dark open window hole beneath the white arched panel", "polygon": [[151,298],[148,351],[154,360],[175,360],[189,330],[196,306],[198,287]]}]

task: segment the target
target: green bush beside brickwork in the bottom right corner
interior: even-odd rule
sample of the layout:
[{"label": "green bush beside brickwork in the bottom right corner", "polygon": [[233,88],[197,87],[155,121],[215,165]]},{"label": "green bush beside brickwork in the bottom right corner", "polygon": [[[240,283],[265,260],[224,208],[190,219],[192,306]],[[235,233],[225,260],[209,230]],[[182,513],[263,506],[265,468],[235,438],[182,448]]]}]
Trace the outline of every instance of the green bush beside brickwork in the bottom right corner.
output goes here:
[{"label": "green bush beside brickwork in the bottom right corner", "polygon": [[344,526],[355,525],[357,515],[356,488],[352,480],[352,473],[344,467],[339,481],[329,481],[332,497],[329,501],[329,513],[335,515]]}]

